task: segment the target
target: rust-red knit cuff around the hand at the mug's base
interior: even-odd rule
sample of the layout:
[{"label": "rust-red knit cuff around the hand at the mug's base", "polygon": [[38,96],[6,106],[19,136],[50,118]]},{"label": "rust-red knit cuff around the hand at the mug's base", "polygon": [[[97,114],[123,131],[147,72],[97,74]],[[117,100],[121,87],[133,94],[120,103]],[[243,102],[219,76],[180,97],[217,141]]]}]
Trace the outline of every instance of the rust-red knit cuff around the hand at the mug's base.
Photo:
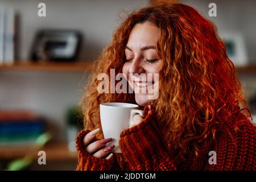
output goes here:
[{"label": "rust-red knit cuff around the hand at the mug's base", "polygon": [[77,171],[108,171],[114,164],[115,157],[110,159],[96,158],[84,150],[82,140],[90,130],[82,130],[76,137],[76,148],[79,159],[77,164]]}]

